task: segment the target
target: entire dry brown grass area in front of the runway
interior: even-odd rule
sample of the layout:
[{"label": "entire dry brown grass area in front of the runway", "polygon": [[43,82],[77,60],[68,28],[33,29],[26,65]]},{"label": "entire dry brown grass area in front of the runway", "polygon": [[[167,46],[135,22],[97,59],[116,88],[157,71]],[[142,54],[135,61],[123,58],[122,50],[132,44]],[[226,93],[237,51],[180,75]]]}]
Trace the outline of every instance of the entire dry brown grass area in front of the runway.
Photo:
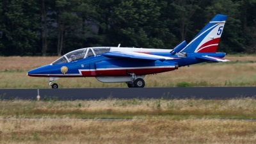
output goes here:
[{"label": "entire dry brown grass area in front of the runway", "polygon": [[255,112],[255,99],[1,100],[0,143],[255,143],[256,122],[209,119]]}]

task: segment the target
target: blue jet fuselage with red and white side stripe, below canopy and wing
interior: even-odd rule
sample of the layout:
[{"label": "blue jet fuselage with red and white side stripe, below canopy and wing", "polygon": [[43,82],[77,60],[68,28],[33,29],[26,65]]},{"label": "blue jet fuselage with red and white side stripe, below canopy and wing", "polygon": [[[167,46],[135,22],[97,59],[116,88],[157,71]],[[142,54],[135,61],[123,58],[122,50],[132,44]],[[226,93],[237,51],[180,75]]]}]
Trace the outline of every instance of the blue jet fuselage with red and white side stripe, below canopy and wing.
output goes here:
[{"label": "blue jet fuselage with red and white side stripe, below canopy and wing", "polygon": [[[196,58],[198,56],[216,56],[223,58],[225,53],[187,53],[171,55],[170,52],[150,52],[157,56],[176,58],[172,61],[152,61],[136,59],[106,58],[102,54],[84,58],[81,60],[60,63],[58,65],[45,65],[28,72],[28,76],[35,77],[95,77],[95,76],[129,76],[129,73],[137,75],[156,74],[175,70],[176,67],[202,63],[207,60]],[[61,68],[67,67],[67,72],[61,72]],[[177,68],[176,68],[177,69]]]}]

